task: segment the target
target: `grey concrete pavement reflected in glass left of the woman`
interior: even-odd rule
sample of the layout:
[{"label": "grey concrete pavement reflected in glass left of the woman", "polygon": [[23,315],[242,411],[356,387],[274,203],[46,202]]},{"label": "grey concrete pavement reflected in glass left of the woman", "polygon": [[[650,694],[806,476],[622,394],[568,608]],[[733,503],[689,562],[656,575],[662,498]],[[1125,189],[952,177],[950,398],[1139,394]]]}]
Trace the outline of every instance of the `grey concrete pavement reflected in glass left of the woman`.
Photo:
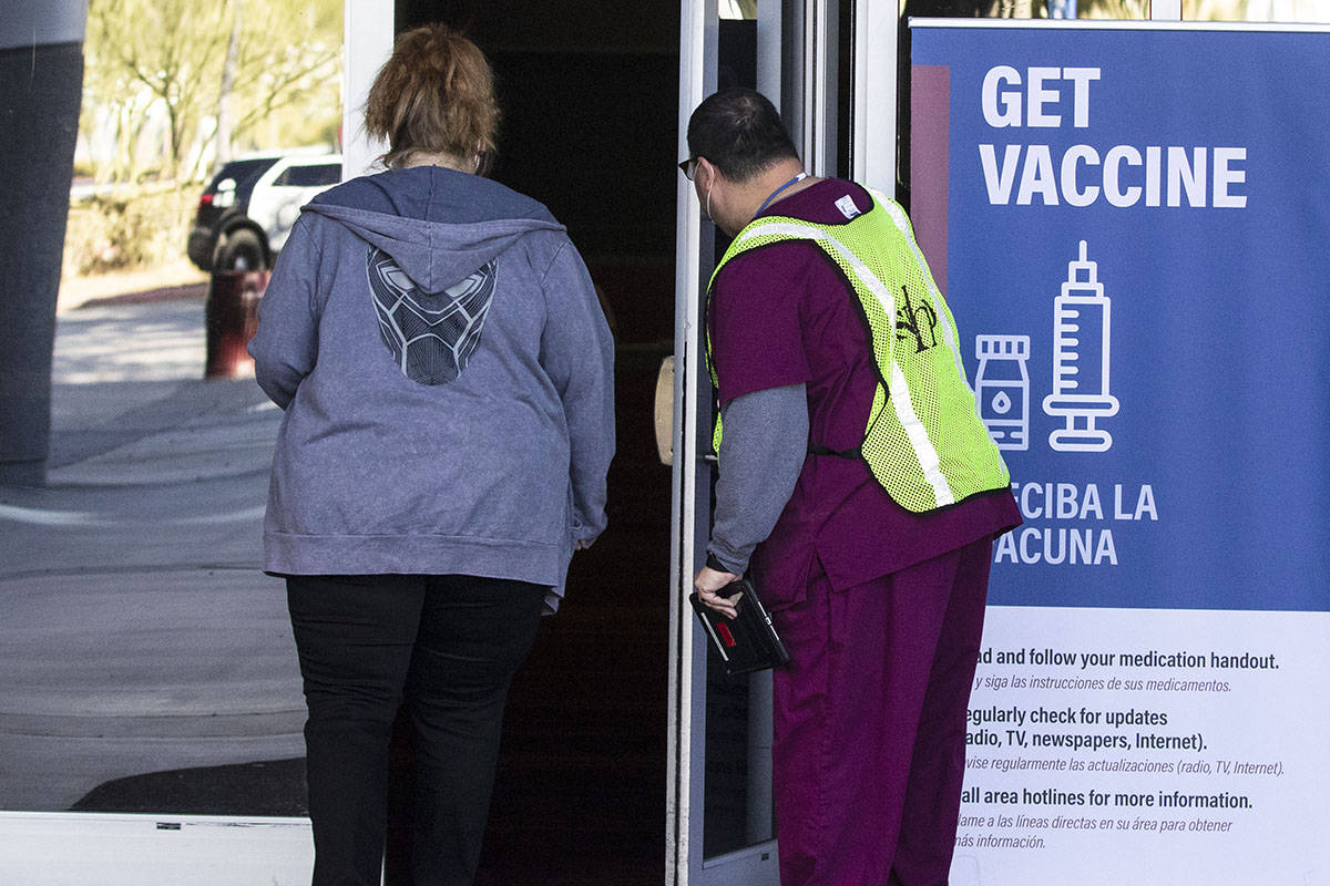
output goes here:
[{"label": "grey concrete pavement reflected in glass left of the woman", "polygon": [[0,487],[0,809],[303,754],[259,569],[282,413],[251,379],[202,380],[203,302],[182,295],[57,319],[48,484]]}]

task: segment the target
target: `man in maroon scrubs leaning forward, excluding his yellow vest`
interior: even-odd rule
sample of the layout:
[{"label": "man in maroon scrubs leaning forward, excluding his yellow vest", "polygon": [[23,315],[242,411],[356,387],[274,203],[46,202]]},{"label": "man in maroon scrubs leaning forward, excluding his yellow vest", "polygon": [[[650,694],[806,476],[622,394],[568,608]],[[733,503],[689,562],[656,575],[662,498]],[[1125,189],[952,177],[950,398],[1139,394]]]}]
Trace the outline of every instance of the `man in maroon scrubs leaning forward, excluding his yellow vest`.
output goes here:
[{"label": "man in maroon scrubs leaning forward, excluding his yellow vest", "polygon": [[[730,236],[874,210],[859,185],[806,175],[751,90],[704,101],[688,143],[681,166]],[[783,886],[947,882],[992,541],[1020,523],[1007,487],[907,510],[858,457],[882,379],[862,311],[798,239],[728,260],[708,306],[724,436],[694,586],[733,614],[726,586],[751,569],[790,651],[774,675]]]}]

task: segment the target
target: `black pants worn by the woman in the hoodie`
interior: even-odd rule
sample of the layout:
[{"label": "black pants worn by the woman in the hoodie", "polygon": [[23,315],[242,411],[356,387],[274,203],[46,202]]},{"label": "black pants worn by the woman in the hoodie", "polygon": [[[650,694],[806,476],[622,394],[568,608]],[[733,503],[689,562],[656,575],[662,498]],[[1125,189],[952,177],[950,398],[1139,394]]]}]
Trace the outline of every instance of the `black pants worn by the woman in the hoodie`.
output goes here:
[{"label": "black pants worn by the woman in the hoodie", "polygon": [[387,758],[415,732],[416,886],[475,877],[508,684],[540,622],[536,584],[469,575],[294,575],[314,886],[378,886]]}]

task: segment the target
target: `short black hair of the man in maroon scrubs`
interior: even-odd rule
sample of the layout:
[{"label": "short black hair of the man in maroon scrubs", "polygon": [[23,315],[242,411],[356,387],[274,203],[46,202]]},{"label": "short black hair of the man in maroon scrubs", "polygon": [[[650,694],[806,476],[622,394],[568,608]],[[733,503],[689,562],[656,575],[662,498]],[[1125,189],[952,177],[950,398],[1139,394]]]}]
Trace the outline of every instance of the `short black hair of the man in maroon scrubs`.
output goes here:
[{"label": "short black hair of the man in maroon scrubs", "polygon": [[746,182],[779,159],[799,158],[781,114],[751,89],[725,89],[702,101],[688,121],[688,150],[732,182]]}]

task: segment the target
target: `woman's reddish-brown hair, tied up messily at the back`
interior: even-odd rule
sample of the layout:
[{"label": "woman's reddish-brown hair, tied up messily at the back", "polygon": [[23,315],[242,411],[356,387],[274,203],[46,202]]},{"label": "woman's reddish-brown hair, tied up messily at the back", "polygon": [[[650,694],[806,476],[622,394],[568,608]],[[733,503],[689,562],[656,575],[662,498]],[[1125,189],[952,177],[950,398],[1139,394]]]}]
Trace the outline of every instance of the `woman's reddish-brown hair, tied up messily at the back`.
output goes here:
[{"label": "woman's reddish-brown hair, tied up messily at the back", "polygon": [[477,173],[492,161],[499,105],[484,53],[447,25],[403,32],[379,69],[364,102],[364,130],[388,142],[384,166],[400,166],[416,151],[476,158]]}]

